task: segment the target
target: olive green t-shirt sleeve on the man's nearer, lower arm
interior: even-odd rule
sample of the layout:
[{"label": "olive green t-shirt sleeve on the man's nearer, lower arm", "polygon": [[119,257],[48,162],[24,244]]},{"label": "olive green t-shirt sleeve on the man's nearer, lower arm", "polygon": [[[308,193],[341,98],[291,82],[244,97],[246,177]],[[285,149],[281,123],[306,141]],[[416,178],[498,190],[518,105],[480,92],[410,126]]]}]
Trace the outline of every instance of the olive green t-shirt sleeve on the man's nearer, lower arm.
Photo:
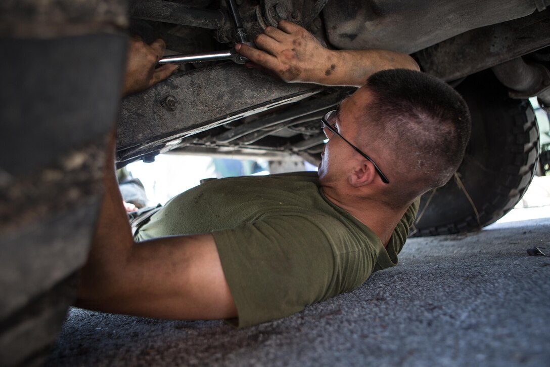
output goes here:
[{"label": "olive green t-shirt sleeve on the man's nearer, lower arm", "polygon": [[234,326],[280,319],[331,296],[334,254],[313,219],[271,217],[212,234],[237,306]]}]

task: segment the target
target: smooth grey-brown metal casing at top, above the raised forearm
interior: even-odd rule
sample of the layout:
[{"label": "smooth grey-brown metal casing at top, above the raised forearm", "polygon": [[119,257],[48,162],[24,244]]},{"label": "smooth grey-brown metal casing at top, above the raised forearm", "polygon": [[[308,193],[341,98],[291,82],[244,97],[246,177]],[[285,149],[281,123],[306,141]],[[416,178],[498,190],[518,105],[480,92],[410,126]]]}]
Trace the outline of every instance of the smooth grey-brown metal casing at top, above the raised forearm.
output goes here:
[{"label": "smooth grey-brown metal casing at top, above the raised forearm", "polygon": [[323,10],[329,42],[337,48],[387,48],[412,53],[481,26],[535,12],[525,0],[329,1]]}]

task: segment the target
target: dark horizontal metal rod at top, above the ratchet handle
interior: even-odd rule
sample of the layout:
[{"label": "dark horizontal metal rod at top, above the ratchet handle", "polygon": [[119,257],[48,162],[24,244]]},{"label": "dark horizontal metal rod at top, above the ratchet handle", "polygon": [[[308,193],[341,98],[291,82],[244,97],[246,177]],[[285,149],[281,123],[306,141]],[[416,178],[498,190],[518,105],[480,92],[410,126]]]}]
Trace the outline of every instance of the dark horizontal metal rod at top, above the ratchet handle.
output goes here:
[{"label": "dark horizontal metal rod at top, above the ratchet handle", "polygon": [[226,21],[220,10],[188,7],[163,0],[132,0],[129,13],[132,18],[207,29],[220,29]]}]

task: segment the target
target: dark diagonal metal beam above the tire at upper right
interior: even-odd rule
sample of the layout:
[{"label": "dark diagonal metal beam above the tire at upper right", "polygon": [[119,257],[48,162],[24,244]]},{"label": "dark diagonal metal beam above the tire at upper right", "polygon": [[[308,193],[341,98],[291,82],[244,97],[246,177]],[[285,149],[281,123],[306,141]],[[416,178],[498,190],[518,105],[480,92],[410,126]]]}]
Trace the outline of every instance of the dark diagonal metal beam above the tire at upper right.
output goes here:
[{"label": "dark diagonal metal beam above the tire at upper right", "polygon": [[550,44],[550,10],[486,26],[417,53],[423,71],[456,80]]}]

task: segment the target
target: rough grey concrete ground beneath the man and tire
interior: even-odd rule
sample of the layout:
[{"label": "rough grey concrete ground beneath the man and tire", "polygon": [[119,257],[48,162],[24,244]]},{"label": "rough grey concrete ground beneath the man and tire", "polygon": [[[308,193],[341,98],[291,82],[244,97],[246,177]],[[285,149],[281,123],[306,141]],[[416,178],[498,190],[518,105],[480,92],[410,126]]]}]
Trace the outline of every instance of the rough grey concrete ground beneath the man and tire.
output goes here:
[{"label": "rough grey concrete ground beneath the man and tire", "polygon": [[548,366],[550,257],[526,250],[550,253],[549,233],[543,218],[410,239],[354,292],[244,330],[74,308],[46,365]]}]

